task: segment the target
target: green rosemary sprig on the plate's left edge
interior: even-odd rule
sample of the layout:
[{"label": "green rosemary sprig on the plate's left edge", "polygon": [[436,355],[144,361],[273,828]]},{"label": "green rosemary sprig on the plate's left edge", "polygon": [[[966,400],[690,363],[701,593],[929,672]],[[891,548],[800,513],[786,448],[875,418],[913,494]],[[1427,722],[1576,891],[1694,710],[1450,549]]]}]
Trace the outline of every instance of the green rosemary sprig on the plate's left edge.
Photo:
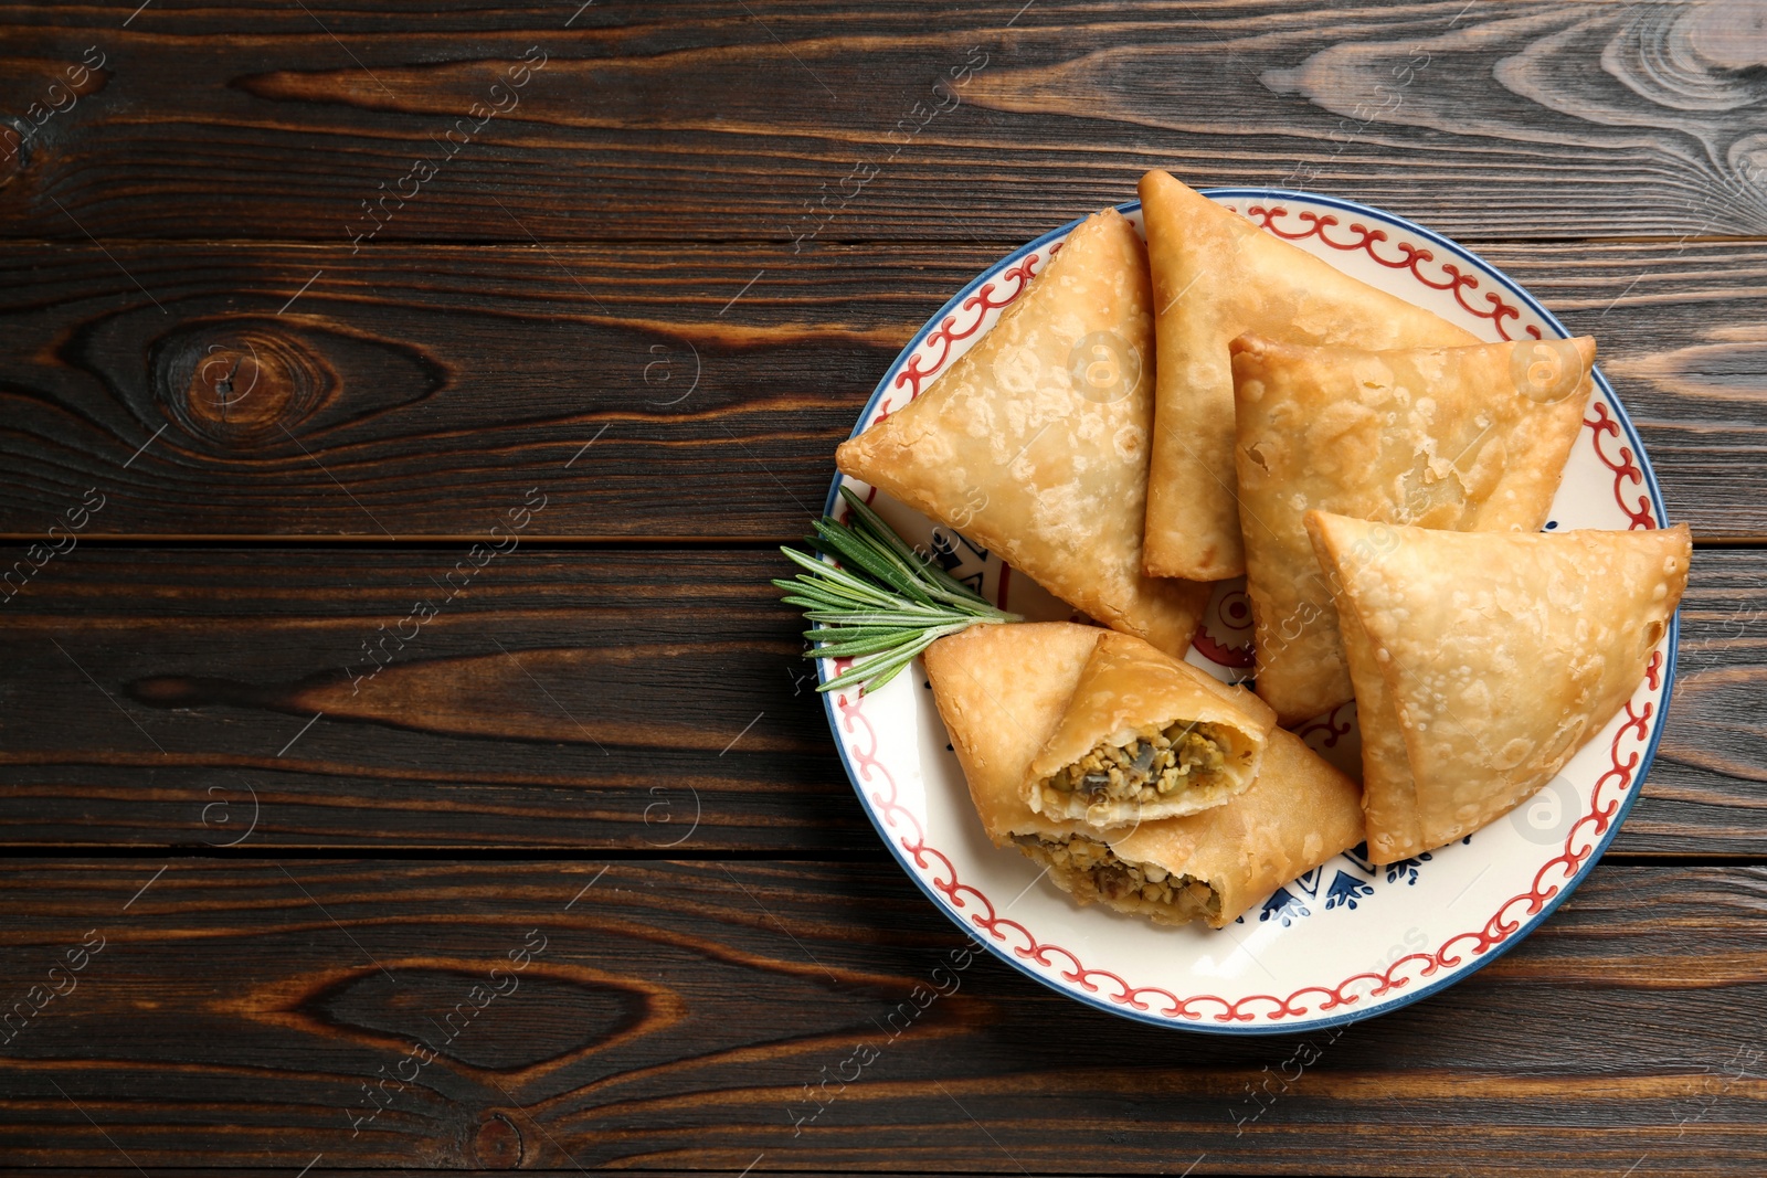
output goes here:
[{"label": "green rosemary sprig on the plate's left edge", "polygon": [[995,609],[935,562],[921,556],[896,535],[864,500],[841,487],[852,523],[832,516],[816,521],[816,535],[804,542],[841,562],[830,565],[795,547],[781,547],[804,569],[790,581],[785,602],[799,606],[816,629],[804,638],[820,643],[806,659],[855,662],[816,691],[857,683],[876,691],[914,662],[914,657],[947,634],[972,625],[1023,622],[1016,613]]}]

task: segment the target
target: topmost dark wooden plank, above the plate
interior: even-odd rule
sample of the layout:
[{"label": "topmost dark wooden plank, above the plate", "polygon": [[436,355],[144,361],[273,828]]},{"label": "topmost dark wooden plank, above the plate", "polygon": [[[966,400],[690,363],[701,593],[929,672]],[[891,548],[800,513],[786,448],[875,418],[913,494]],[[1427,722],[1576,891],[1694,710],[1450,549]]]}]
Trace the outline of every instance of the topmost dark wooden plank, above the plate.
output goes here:
[{"label": "topmost dark wooden plank, above the plate", "polygon": [[134,7],[5,18],[14,118],[104,55],[7,235],[341,242],[405,191],[382,240],[1021,240],[1154,166],[1467,235],[1767,226],[1748,4]]}]

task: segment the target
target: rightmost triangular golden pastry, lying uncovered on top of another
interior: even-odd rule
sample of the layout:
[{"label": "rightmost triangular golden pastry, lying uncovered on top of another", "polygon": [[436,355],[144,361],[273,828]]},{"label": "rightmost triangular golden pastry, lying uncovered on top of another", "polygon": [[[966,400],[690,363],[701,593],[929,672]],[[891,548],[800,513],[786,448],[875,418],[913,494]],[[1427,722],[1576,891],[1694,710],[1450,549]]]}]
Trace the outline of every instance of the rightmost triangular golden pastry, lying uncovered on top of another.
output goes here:
[{"label": "rightmost triangular golden pastry, lying uncovered on top of another", "polygon": [[1368,853],[1452,842],[1532,797],[1645,675],[1686,525],[1433,532],[1308,512],[1362,726]]}]

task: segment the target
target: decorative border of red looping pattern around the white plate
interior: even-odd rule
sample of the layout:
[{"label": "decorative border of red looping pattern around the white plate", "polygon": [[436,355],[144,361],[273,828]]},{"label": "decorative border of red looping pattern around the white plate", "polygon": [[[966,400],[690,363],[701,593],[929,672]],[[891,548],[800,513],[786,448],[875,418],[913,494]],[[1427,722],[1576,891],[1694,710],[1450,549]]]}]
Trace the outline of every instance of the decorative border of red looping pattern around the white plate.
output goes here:
[{"label": "decorative border of red looping pattern around the white plate", "polygon": [[[1474,251],[1456,245],[1445,237],[1405,217],[1332,196],[1316,196],[1311,193],[1292,193],[1281,189],[1203,189],[1203,194],[1217,201],[1263,201],[1262,205],[1248,207],[1248,212],[1260,219],[1267,230],[1286,240],[1318,237],[1332,249],[1362,251],[1384,267],[1408,268],[1422,284],[1433,290],[1451,291],[1456,302],[1470,314],[1491,320],[1497,332],[1504,339],[1511,339],[1504,327],[1504,320],[1520,320],[1521,307],[1537,314],[1560,336],[1567,334],[1558,318],[1546,311],[1546,307],[1543,307],[1507,274],[1484,261],[1484,258]],[[1332,240],[1329,231],[1343,224],[1343,221],[1334,214],[1320,215],[1313,212],[1301,212],[1297,214],[1301,226],[1295,230],[1276,228],[1276,217],[1288,215],[1286,210],[1281,208],[1283,201],[1306,201],[1309,205],[1327,207],[1343,214],[1369,217],[1376,223],[1389,223],[1415,235],[1415,238],[1424,244],[1414,245],[1410,242],[1392,242],[1389,233],[1384,228],[1378,228],[1378,224],[1371,230],[1357,221],[1350,221],[1346,226],[1348,233],[1359,235],[1357,240]],[[1126,201],[1117,205],[1117,210],[1126,215],[1138,214],[1140,201]],[[889,371],[884,374],[884,380],[878,381],[878,387],[873,390],[859,415],[859,424],[855,424],[852,436],[857,436],[861,429],[869,424],[873,410],[885,397],[896,392],[896,387],[910,387],[910,399],[917,396],[922,381],[944,367],[951,346],[956,341],[972,336],[981,327],[990,309],[1011,304],[1023,291],[1025,284],[1032,277],[1032,268],[1037,263],[1035,254],[1055,238],[1066,238],[1066,235],[1078,224],[1080,219],[1074,219],[1021,245],[1018,251],[1007,254],[1002,261],[984,270],[949,302],[945,302],[945,306],[938,309],[926,327],[922,327],[898,355],[898,362],[901,357],[908,357],[906,362],[901,362],[899,367],[898,362],[892,362]],[[1375,247],[1382,242],[1391,242],[1398,254],[1394,258],[1380,256]],[[1060,245],[1057,244],[1055,249],[1060,249]],[[1435,261],[1435,249],[1442,249],[1451,260],[1438,263],[1442,267],[1442,276],[1431,279],[1419,267],[1422,263]],[[1454,260],[1458,258],[1470,258],[1475,265],[1484,267],[1488,276],[1509,297],[1513,297],[1516,304],[1505,304],[1502,295],[1495,290],[1483,291],[1486,300],[1483,307],[1479,304],[1468,304],[1463,291],[1477,291],[1483,276],[1472,276],[1461,270],[1454,265]],[[1000,291],[995,288],[995,283],[1000,281],[1011,281],[1014,284],[1011,293],[1004,298],[998,297]],[[958,328],[959,316],[968,320],[968,327]],[[1528,334],[1539,337],[1539,332],[1534,327],[1528,327]],[[940,344],[940,355],[929,367],[922,367],[919,364],[919,350],[924,343]],[[894,381],[891,380],[892,374],[896,376]],[[1608,383],[1599,367],[1594,373],[1594,383],[1601,390],[1603,399],[1597,399],[1592,406],[1594,419],[1585,419],[1583,424],[1594,434],[1592,445],[1596,449],[1596,456],[1608,470],[1613,472],[1615,502],[1631,521],[1631,528],[1666,526],[1670,519],[1663,503],[1661,487],[1657,486],[1656,473],[1650,470],[1650,461],[1643,452],[1643,443],[1640,442],[1631,419],[1626,415],[1626,408],[1620,404],[1619,396],[1613,392],[1613,387]],[[1613,406],[1612,415],[1606,412],[1608,404]],[[1610,456],[1608,450],[1603,449],[1604,438],[1619,442],[1617,456]],[[1633,495],[1638,495],[1640,498],[1627,498],[1627,484],[1633,486]],[[823,503],[823,512],[836,514],[839,507],[839,486],[841,475],[836,473],[834,482],[829,487],[827,502]],[[1626,821],[1626,814],[1631,811],[1633,802],[1636,802],[1642,793],[1643,779],[1656,759],[1657,744],[1663,738],[1663,729],[1668,721],[1668,703],[1673,691],[1675,655],[1679,645],[1680,615],[1677,611],[1670,622],[1665,648],[1652,655],[1647,668],[1649,687],[1657,694],[1657,698],[1654,701],[1645,701],[1642,710],[1636,712],[1631,701],[1624,705],[1626,721],[1613,735],[1612,747],[1608,751],[1610,768],[1596,782],[1589,812],[1581,814],[1573,823],[1562,851],[1539,867],[1532,887],[1527,892],[1513,895],[1498,904],[1497,911],[1483,924],[1483,927],[1456,933],[1435,952],[1408,954],[1387,964],[1384,971],[1354,973],[1332,987],[1306,985],[1293,991],[1286,998],[1279,998],[1276,994],[1248,994],[1235,1001],[1228,1001],[1214,994],[1191,994],[1187,998],[1179,998],[1163,987],[1133,985],[1113,971],[1088,968],[1074,952],[1062,948],[1060,945],[1041,943],[1030,929],[1000,915],[986,894],[968,883],[963,883],[958,878],[956,864],[949,855],[926,844],[921,823],[896,800],[898,795],[894,777],[884,763],[876,759],[876,731],[871,729],[869,719],[866,719],[861,710],[861,698],[850,698],[850,692],[827,692],[823,694],[823,710],[829,717],[829,729],[834,735],[836,747],[841,754],[841,765],[846,768],[848,781],[852,781],[853,791],[859,795],[861,805],[871,819],[871,825],[876,828],[878,837],[891,850],[896,862],[901,864],[908,878],[914,880],[915,887],[919,887],[928,899],[933,901],[935,908],[944,911],[952,924],[963,929],[995,957],[1048,985],[1050,989],[1074,998],[1076,1001],[1154,1026],[1228,1035],[1285,1035],[1301,1030],[1341,1026],[1419,1001],[1421,998],[1445,989],[1474,971],[1483,970],[1486,964],[1520,943],[1521,938],[1550,917],[1558,904],[1562,904],[1571,892],[1576,890],[1596,860],[1599,860],[1608,850],[1608,844],[1612,844],[1620,825]],[[845,661],[836,661],[836,666],[839,668],[841,662]],[[829,661],[818,661],[816,668],[822,682],[827,682]],[[859,731],[855,726],[864,726],[864,735],[869,736],[869,747],[848,749],[848,742],[843,740],[841,729],[845,728],[846,733],[857,740]],[[876,781],[876,777],[882,777],[882,781]],[[873,789],[887,786],[889,793],[868,793],[868,786]],[[906,828],[901,823],[905,823]],[[944,874],[938,871],[938,865],[944,867]],[[1011,931],[1011,934],[1005,931]],[[979,933],[986,934],[986,938],[979,936]],[[1011,940],[1018,940],[1021,943],[1009,943],[1009,936]],[[1066,957],[1066,968],[1057,961],[1057,955]],[[1475,957],[1470,964],[1467,964],[1468,955]],[[1041,966],[1041,970],[1037,966]],[[1060,980],[1050,977],[1044,970],[1057,970]],[[1398,998],[1371,1001],[1369,1005],[1361,1005],[1361,1008],[1343,1014],[1323,1014],[1338,1010],[1339,1007],[1355,1007],[1366,1000],[1380,1000],[1396,991],[1407,991],[1414,982],[1433,978],[1444,971],[1444,977],[1419,985],[1410,993],[1403,993]],[[1067,982],[1067,985],[1062,982]],[[1106,984],[1110,984],[1110,991],[1103,991],[1103,985]],[[1097,996],[1101,991],[1103,998]],[[1156,1008],[1149,1001],[1150,998],[1161,1000],[1164,1007]],[[1198,1005],[1203,1008],[1193,1008]],[[1295,1021],[1288,1023],[1286,1019]]]}]

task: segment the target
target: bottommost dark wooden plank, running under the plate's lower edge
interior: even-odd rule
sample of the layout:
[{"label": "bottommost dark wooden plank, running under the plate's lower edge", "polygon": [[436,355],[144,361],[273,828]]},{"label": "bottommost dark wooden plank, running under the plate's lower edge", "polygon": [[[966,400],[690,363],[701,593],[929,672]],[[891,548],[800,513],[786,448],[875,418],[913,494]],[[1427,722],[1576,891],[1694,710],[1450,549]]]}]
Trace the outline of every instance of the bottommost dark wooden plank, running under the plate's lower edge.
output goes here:
[{"label": "bottommost dark wooden plank, running under the plate's lower edge", "polygon": [[[9,1000],[102,938],[0,1054],[14,1164],[1718,1174],[1767,1152],[1760,869],[1599,867],[1509,955],[1288,1069],[1295,1037],[1152,1030],[963,957],[892,867],[157,871],[0,869]],[[945,996],[892,1038],[929,978]],[[438,1031],[461,1001],[482,1016]]]}]

